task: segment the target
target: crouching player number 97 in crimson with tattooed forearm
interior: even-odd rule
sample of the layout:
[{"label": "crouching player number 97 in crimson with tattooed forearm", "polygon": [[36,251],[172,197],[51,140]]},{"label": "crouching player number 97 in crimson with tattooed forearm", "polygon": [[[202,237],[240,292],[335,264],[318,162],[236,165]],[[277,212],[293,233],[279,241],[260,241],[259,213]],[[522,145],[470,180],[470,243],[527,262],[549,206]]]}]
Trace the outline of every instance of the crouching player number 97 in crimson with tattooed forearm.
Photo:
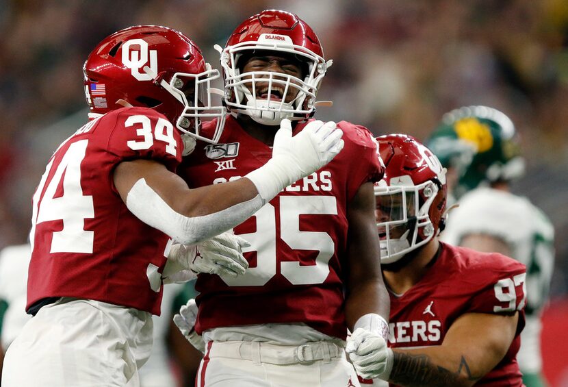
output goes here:
[{"label": "crouching player number 97 in crimson with tattooed forearm", "polygon": [[522,386],[515,355],[525,266],[439,241],[446,169],[411,136],[377,140],[386,166],[375,192],[392,356],[387,371],[367,364],[361,376],[400,386]]}]

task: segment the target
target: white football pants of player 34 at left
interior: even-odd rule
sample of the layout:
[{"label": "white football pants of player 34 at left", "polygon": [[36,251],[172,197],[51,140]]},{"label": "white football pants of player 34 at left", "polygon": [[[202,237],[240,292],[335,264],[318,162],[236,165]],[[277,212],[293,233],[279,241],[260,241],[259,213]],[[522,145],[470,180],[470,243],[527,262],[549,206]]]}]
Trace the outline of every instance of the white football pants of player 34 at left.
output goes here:
[{"label": "white football pants of player 34 at left", "polygon": [[8,347],[2,386],[139,386],[152,329],[148,312],[60,299],[41,308]]}]

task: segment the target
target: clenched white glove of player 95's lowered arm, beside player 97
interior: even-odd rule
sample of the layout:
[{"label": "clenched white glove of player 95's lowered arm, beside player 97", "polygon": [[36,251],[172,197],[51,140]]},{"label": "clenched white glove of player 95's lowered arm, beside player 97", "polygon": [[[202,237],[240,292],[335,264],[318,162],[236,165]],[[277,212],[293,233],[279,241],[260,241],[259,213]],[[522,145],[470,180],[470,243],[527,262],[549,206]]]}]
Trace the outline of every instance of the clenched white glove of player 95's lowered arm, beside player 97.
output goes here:
[{"label": "clenched white glove of player 95's lowered arm, beside player 97", "polygon": [[357,328],[347,338],[345,351],[359,376],[365,379],[389,378],[393,366],[393,351],[387,347],[383,336]]}]

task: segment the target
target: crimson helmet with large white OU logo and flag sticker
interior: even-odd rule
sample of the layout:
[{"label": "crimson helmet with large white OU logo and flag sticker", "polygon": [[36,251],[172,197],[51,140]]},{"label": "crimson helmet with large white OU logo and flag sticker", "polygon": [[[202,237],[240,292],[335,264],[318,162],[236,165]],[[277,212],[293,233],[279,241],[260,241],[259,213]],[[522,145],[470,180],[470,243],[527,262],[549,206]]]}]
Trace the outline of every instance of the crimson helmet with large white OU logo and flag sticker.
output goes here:
[{"label": "crimson helmet with large white OU logo and flag sticker", "polygon": [[[153,108],[181,132],[217,142],[226,109],[214,104],[211,82],[220,77],[201,50],[181,32],[137,25],[103,39],[83,66],[90,116],[133,106]],[[220,90],[218,90],[220,92]],[[218,118],[211,136],[200,133],[203,118]]]}]

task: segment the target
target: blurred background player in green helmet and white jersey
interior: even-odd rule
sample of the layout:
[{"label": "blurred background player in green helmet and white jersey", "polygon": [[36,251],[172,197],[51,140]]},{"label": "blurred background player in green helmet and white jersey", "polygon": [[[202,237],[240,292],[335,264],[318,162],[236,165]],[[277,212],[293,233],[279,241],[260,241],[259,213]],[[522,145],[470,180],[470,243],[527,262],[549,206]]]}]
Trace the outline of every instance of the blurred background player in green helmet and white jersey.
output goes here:
[{"label": "blurred background player in green helmet and white jersey", "polygon": [[526,326],[517,360],[524,384],[543,386],[541,312],[554,268],[554,227],[526,197],[511,192],[511,182],[524,173],[515,125],[499,110],[464,106],[444,114],[428,146],[457,179],[459,208],[452,210],[441,240],[498,251],[527,267]]}]

